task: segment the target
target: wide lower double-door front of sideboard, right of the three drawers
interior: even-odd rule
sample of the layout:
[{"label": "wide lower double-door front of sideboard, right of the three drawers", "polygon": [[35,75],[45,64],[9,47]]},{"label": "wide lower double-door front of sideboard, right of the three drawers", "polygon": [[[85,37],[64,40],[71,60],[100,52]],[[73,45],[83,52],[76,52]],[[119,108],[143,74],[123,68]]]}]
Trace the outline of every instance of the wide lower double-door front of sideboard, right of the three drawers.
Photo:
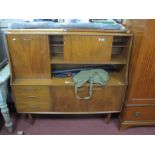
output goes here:
[{"label": "wide lower double-door front of sideboard, right of the three drawers", "polygon": [[[55,112],[119,112],[122,107],[125,86],[94,87],[90,100],[77,99],[72,86],[52,87]],[[88,87],[80,88],[80,97],[88,95]]]}]

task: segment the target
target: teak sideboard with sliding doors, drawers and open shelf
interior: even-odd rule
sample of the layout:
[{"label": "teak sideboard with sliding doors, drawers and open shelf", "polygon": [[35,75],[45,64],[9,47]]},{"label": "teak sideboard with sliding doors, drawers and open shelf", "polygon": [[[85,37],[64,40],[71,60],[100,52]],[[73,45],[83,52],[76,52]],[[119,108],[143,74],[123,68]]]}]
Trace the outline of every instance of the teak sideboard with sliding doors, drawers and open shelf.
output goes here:
[{"label": "teak sideboard with sliding doors, drawers and open shelf", "polygon": [[[127,32],[8,30],[11,87],[19,113],[118,113],[128,85],[132,34]],[[93,86],[90,100],[76,99],[72,77],[57,70],[103,68],[105,86]],[[79,89],[86,96],[88,84]]]}]

